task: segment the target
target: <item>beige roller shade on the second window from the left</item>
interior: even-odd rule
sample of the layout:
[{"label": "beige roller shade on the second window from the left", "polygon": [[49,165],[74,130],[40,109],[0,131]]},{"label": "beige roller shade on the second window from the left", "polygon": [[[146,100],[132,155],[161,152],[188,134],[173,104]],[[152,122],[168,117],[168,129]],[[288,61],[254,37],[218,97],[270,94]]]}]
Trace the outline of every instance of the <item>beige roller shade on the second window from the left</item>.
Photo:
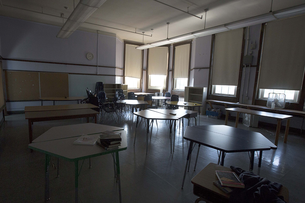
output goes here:
[{"label": "beige roller shade on the second window from the left", "polygon": [[148,74],[167,75],[168,48],[149,48],[148,53]]}]

